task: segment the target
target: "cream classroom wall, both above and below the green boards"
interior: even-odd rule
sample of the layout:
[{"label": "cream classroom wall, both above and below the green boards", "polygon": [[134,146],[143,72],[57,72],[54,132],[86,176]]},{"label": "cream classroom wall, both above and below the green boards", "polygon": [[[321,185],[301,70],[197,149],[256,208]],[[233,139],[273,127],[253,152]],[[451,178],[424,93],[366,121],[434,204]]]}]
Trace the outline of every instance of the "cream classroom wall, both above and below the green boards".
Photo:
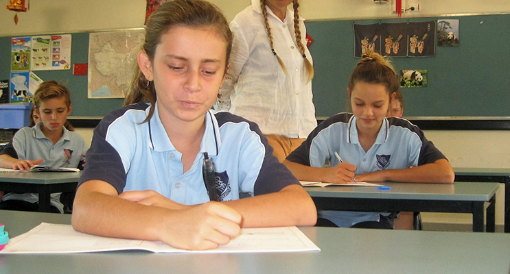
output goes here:
[{"label": "cream classroom wall, both above and below the green boards", "polygon": [[[404,4],[405,4],[404,0]],[[417,1],[417,0],[415,0]],[[230,21],[249,0],[211,0],[224,10]],[[393,0],[391,2],[394,3]],[[42,0],[31,1],[30,11],[19,13],[0,8],[0,36],[90,32],[143,26],[146,0]],[[404,14],[427,17],[466,14],[510,13],[509,0],[420,0],[421,10]],[[378,5],[373,0],[301,0],[301,15],[306,19],[334,20],[355,18],[394,18],[393,5]],[[496,31],[496,30],[495,30]],[[5,53],[0,53],[5,54]],[[77,129],[90,143],[92,130]],[[426,135],[449,158],[452,166],[510,168],[510,132],[500,131],[428,131]],[[502,191],[498,192],[496,223],[502,224]],[[469,223],[470,216],[424,214],[424,221]]]}]

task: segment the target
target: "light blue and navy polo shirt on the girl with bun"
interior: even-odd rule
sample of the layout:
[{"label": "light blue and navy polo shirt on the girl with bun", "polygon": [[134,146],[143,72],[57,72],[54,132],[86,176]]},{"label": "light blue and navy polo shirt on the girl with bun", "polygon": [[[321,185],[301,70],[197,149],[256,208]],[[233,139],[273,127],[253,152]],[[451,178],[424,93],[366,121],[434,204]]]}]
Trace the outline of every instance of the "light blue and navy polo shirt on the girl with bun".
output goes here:
[{"label": "light blue and navy polo shirt on the girl with bun", "polygon": [[[356,166],[356,174],[384,169],[406,169],[445,159],[421,129],[405,119],[385,118],[369,151],[365,152],[358,139],[356,117],[340,113],[318,125],[307,140],[288,155],[287,160],[306,166],[323,167],[339,164],[334,155]],[[351,227],[363,221],[379,221],[378,212],[321,211],[318,216],[340,227]],[[387,215],[388,213],[382,213]]]}]

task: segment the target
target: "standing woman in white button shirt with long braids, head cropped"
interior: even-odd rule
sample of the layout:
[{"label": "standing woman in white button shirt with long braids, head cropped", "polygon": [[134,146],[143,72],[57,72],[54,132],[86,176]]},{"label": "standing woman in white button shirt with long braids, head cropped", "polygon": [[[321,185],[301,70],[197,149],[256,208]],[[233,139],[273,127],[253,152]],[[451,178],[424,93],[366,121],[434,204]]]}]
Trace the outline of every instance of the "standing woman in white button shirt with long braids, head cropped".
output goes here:
[{"label": "standing woman in white button shirt with long braids, head cropped", "polygon": [[256,122],[280,162],[317,125],[312,56],[298,8],[298,0],[251,0],[235,16],[230,70],[215,105]]}]

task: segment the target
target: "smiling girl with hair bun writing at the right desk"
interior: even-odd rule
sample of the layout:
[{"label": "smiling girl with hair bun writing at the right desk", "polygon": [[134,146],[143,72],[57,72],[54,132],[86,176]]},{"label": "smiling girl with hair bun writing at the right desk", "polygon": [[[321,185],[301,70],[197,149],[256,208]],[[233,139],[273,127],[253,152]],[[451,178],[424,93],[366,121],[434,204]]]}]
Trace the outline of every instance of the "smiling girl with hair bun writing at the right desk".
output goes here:
[{"label": "smiling girl with hair bun writing at the right desk", "polygon": [[[407,120],[385,117],[397,88],[391,64],[378,53],[365,53],[347,88],[353,113],[336,114],[318,125],[283,164],[304,181],[451,184],[452,166],[424,133]],[[323,167],[325,162],[331,167]],[[394,214],[323,211],[318,216],[322,226],[391,229]]]}]

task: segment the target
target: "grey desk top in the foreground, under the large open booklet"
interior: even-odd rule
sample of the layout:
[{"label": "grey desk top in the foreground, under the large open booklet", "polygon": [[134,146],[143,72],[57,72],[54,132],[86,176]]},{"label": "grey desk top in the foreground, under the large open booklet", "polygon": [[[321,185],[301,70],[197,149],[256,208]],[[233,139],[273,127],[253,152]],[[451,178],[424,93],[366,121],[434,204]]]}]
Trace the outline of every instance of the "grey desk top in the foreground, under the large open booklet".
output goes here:
[{"label": "grey desk top in the foreground, under the large open booklet", "polygon": [[[16,236],[71,216],[0,210]],[[300,227],[320,252],[1,254],[0,273],[508,273],[510,235]]]}]

